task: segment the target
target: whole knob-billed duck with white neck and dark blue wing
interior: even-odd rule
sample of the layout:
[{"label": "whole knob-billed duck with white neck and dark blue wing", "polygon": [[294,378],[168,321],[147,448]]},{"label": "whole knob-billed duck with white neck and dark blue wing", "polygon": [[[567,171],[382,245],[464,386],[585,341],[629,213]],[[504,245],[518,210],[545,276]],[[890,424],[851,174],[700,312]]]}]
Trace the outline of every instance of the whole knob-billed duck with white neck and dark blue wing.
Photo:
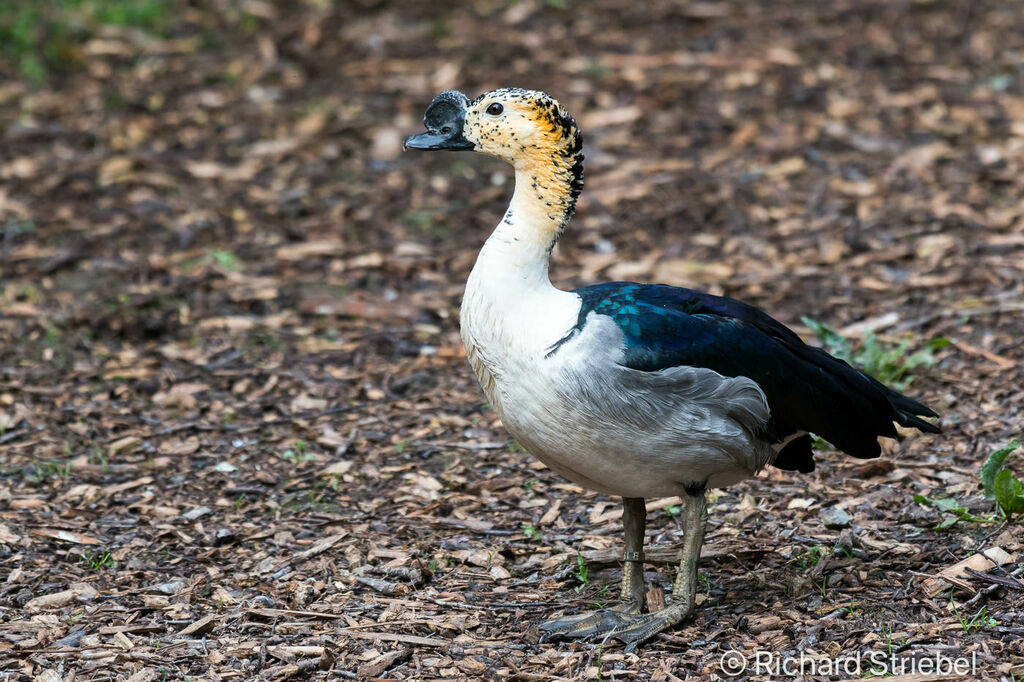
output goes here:
[{"label": "whole knob-billed duck with white neck and dark blue wing", "polygon": [[[548,273],[584,184],[583,135],[539,90],[436,95],[404,148],[497,157],[515,172],[508,209],[466,283],[466,355],[504,427],[549,468],[622,498],[617,603],[539,624],[542,640],[602,638],[626,650],[693,614],[706,493],[768,466],[814,470],[812,437],[877,458],[895,425],[938,433],[922,402],[806,344],[761,309],[658,284],[571,291]],[[645,498],[679,496],[683,542],[669,603],[645,612]]]}]

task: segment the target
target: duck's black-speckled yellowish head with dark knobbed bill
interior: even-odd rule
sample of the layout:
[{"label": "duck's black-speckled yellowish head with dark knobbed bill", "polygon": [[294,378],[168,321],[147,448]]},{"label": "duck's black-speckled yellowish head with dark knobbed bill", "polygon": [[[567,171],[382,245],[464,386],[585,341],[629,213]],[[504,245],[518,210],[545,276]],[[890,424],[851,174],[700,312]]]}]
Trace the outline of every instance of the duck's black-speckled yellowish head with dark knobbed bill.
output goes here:
[{"label": "duck's black-speckled yellowish head with dark knobbed bill", "polygon": [[413,135],[414,150],[471,150],[528,167],[551,160],[577,161],[583,139],[575,120],[551,95],[501,88],[472,101],[457,90],[434,97],[423,116],[427,132]]}]

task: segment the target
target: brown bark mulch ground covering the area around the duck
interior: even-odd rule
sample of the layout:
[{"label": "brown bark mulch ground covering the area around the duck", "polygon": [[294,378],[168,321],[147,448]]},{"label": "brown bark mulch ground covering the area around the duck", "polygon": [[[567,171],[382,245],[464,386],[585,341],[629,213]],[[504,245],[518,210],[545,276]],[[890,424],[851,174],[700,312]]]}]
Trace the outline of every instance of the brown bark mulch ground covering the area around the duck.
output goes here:
[{"label": "brown bark mulch ground covering the area around the duck", "polygon": [[[4,679],[1024,677],[1024,534],[979,478],[1024,407],[1024,5],[156,4],[41,85],[0,67]],[[586,135],[559,285],[897,366],[940,340],[906,390],[943,433],[717,492],[695,616],[635,654],[538,643],[614,597],[618,504],[509,441],[459,341],[510,169],[400,150],[437,91],[505,85]]]}]

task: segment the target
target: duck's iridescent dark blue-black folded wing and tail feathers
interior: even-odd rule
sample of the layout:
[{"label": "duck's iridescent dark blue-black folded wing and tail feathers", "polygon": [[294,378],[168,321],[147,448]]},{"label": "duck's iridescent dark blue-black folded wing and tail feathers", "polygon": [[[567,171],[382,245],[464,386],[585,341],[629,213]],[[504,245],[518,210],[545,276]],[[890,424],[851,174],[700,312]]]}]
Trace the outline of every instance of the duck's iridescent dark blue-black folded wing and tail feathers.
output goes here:
[{"label": "duck's iridescent dark blue-black folded wing and tail feathers", "polygon": [[[705,367],[748,377],[764,391],[772,433],[810,431],[854,457],[878,457],[878,436],[896,437],[893,422],[938,432],[920,417],[935,413],[805,344],[752,305],[665,285],[609,282],[575,290],[583,301],[578,328],[591,312],[611,317],[623,332],[627,367],[656,371]],[[787,452],[788,451],[788,452]],[[800,438],[776,464],[810,470],[810,439]],[[786,465],[792,466],[786,466]]]}]

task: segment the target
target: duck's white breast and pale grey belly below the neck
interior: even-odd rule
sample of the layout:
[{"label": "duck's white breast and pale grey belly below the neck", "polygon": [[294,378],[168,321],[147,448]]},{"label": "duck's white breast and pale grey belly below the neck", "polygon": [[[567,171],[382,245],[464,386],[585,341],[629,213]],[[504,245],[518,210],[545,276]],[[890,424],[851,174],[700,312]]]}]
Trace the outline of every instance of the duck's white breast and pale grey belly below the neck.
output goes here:
[{"label": "duck's white breast and pale grey belly below the neck", "polygon": [[[685,386],[657,394],[643,383],[654,373],[618,366],[622,335],[610,321],[589,322],[551,353],[578,323],[574,294],[552,288],[557,295],[498,308],[473,284],[462,313],[470,364],[508,431],[559,474],[611,495],[662,497],[728,485],[763,465],[750,433],[714,401],[688,404]],[[701,381],[696,398],[736,380]]]}]

